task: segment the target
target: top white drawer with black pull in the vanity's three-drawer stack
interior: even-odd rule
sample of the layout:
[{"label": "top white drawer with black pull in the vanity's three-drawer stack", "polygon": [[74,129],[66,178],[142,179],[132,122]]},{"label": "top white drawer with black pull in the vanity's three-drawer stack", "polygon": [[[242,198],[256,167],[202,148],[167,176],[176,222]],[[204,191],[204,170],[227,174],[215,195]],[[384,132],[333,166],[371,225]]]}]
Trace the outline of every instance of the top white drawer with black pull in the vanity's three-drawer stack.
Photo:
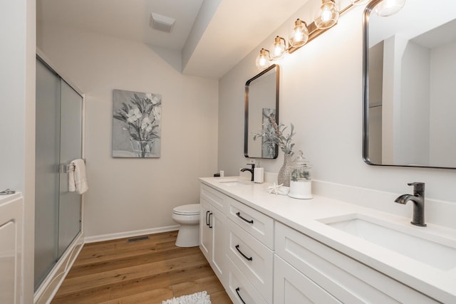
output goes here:
[{"label": "top white drawer with black pull in the vanity's three-drawer stack", "polygon": [[274,250],[274,220],[272,218],[232,198],[229,198],[227,207],[229,219]]}]

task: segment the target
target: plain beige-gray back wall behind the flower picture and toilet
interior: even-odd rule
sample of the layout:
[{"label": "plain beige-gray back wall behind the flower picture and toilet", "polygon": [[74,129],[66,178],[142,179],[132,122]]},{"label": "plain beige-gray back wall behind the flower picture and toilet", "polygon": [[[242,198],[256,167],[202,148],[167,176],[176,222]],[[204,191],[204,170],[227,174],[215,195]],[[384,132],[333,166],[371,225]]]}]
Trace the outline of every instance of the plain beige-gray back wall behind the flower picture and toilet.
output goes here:
[{"label": "plain beige-gray back wall behind the flower picture and toilet", "polygon": [[[86,95],[85,236],[174,226],[172,208],[197,203],[198,177],[217,169],[217,80],[182,75],[135,41],[52,24],[38,24],[38,38]],[[111,157],[113,89],[162,95],[160,158]]]}]

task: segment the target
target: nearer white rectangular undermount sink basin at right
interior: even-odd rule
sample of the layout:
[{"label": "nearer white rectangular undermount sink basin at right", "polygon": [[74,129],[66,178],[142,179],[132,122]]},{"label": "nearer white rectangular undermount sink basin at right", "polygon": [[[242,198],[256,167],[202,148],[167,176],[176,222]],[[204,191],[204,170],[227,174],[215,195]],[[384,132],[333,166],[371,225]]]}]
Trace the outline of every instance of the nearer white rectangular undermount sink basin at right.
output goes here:
[{"label": "nearer white rectangular undermount sink basin at right", "polygon": [[429,234],[426,228],[418,230],[364,214],[347,214],[318,221],[435,268],[447,271],[456,266],[456,241]]}]

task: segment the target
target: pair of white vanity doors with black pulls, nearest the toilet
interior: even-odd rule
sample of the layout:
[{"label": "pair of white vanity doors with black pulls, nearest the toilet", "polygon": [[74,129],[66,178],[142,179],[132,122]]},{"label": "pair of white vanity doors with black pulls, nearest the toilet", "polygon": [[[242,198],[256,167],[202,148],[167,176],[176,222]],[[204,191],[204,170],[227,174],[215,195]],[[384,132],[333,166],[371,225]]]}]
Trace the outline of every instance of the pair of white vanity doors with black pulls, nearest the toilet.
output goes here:
[{"label": "pair of white vanity doors with black pulls, nearest the toilet", "polygon": [[206,185],[201,186],[199,193],[199,248],[222,284],[226,281],[227,268],[227,216],[224,215],[224,200],[227,197]]}]

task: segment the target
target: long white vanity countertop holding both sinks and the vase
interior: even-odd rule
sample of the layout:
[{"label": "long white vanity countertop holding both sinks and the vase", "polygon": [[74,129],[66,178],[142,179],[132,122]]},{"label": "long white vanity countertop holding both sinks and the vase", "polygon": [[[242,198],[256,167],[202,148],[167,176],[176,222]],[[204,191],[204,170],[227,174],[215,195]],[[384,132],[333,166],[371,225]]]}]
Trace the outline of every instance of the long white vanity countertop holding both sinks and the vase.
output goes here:
[{"label": "long white vanity countertop holding both sinks and the vase", "polygon": [[[412,214],[410,214],[410,218],[395,216],[324,196],[314,195],[314,199],[292,199],[289,196],[269,194],[267,187],[271,184],[266,183],[254,184],[247,181],[235,185],[221,183],[221,181],[237,178],[206,177],[200,180],[203,184],[232,196],[277,221],[351,256],[405,285],[420,290],[436,300],[443,303],[456,303],[456,267],[450,270],[432,267],[357,236],[334,229],[318,219],[363,214],[403,227],[410,234],[420,236],[424,232],[440,236],[446,242],[445,244],[452,248],[456,248],[455,229],[429,223],[427,227],[413,226],[410,224]],[[416,250],[419,251],[420,248],[416,248]],[[435,258],[438,259],[439,256],[435,256]]]}]

